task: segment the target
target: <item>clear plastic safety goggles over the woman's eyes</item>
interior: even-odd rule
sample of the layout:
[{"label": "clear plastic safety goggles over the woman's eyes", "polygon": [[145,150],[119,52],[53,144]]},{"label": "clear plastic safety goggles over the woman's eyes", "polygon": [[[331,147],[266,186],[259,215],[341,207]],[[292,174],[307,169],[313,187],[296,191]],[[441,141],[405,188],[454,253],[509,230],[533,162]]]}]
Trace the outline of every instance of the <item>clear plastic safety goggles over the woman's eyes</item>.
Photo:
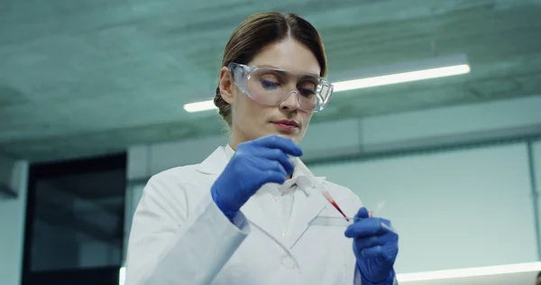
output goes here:
[{"label": "clear plastic safety goggles over the woman's eyes", "polygon": [[300,109],[318,112],[327,106],[333,94],[333,85],[313,74],[239,63],[230,63],[228,68],[235,85],[263,105],[277,106],[295,94]]}]

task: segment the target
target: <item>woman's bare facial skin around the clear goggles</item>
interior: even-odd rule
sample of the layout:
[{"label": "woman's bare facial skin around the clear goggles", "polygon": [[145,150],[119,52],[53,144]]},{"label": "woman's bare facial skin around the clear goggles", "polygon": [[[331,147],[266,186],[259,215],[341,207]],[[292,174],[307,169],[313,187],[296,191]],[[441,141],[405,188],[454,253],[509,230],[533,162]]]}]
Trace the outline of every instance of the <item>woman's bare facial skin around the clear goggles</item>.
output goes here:
[{"label": "woman's bare facial skin around the clear goggles", "polygon": [[[247,65],[269,66],[314,75],[319,75],[320,72],[319,64],[312,52],[290,38],[267,46]],[[297,93],[292,92],[279,105],[263,105],[243,94],[235,86],[227,70],[223,68],[220,74],[220,89],[222,97],[232,105],[232,147],[236,148],[238,143],[272,133],[300,142],[314,113],[299,108]],[[295,80],[290,80],[283,88],[295,90],[296,85]],[[289,121],[289,124],[294,122],[295,125],[277,123],[284,120]]]}]

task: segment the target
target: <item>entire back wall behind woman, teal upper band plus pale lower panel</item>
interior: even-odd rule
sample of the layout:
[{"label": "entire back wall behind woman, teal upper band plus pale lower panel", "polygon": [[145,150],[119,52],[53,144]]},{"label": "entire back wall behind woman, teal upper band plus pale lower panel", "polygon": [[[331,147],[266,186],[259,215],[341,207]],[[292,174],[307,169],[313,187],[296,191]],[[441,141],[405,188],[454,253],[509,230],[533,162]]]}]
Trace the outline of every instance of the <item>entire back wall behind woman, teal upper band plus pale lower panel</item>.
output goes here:
[{"label": "entire back wall behind woman, teal upper band plus pale lower panel", "polygon": [[[532,262],[538,241],[526,143],[445,147],[536,137],[540,109],[538,96],[313,124],[300,145],[315,172],[352,188],[367,206],[386,200],[381,214],[401,233],[399,271]],[[225,142],[219,135],[130,148],[128,181],[137,190],[128,212],[152,174],[202,161]],[[364,160],[381,154],[386,158]]]}]

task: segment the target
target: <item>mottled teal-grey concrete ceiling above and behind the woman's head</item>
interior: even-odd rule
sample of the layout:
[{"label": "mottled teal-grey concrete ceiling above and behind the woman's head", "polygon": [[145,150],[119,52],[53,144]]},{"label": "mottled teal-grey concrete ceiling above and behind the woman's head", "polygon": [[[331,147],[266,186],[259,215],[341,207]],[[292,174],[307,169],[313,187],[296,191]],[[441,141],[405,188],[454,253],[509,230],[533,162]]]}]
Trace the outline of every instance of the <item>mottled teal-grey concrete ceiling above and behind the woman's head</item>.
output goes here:
[{"label": "mottled teal-grey concrete ceiling above and behind the woman's head", "polygon": [[231,32],[250,14],[307,18],[329,77],[466,53],[468,75],[336,93],[314,121],[541,95],[540,0],[0,0],[0,152],[48,161],[215,135]]}]

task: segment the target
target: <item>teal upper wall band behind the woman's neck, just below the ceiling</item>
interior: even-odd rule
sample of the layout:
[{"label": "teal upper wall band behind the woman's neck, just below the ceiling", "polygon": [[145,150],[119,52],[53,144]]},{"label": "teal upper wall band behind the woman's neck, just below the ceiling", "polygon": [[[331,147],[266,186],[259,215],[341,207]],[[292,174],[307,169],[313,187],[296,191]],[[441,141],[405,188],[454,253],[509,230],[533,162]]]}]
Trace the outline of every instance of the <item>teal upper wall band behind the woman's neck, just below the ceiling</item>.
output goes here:
[{"label": "teal upper wall band behind the woman's neck, just below the ceiling", "polygon": [[[396,152],[541,133],[541,96],[311,124],[300,143],[304,161]],[[339,138],[339,139],[338,139]],[[225,134],[183,142],[134,145],[128,179],[203,161]]]}]

